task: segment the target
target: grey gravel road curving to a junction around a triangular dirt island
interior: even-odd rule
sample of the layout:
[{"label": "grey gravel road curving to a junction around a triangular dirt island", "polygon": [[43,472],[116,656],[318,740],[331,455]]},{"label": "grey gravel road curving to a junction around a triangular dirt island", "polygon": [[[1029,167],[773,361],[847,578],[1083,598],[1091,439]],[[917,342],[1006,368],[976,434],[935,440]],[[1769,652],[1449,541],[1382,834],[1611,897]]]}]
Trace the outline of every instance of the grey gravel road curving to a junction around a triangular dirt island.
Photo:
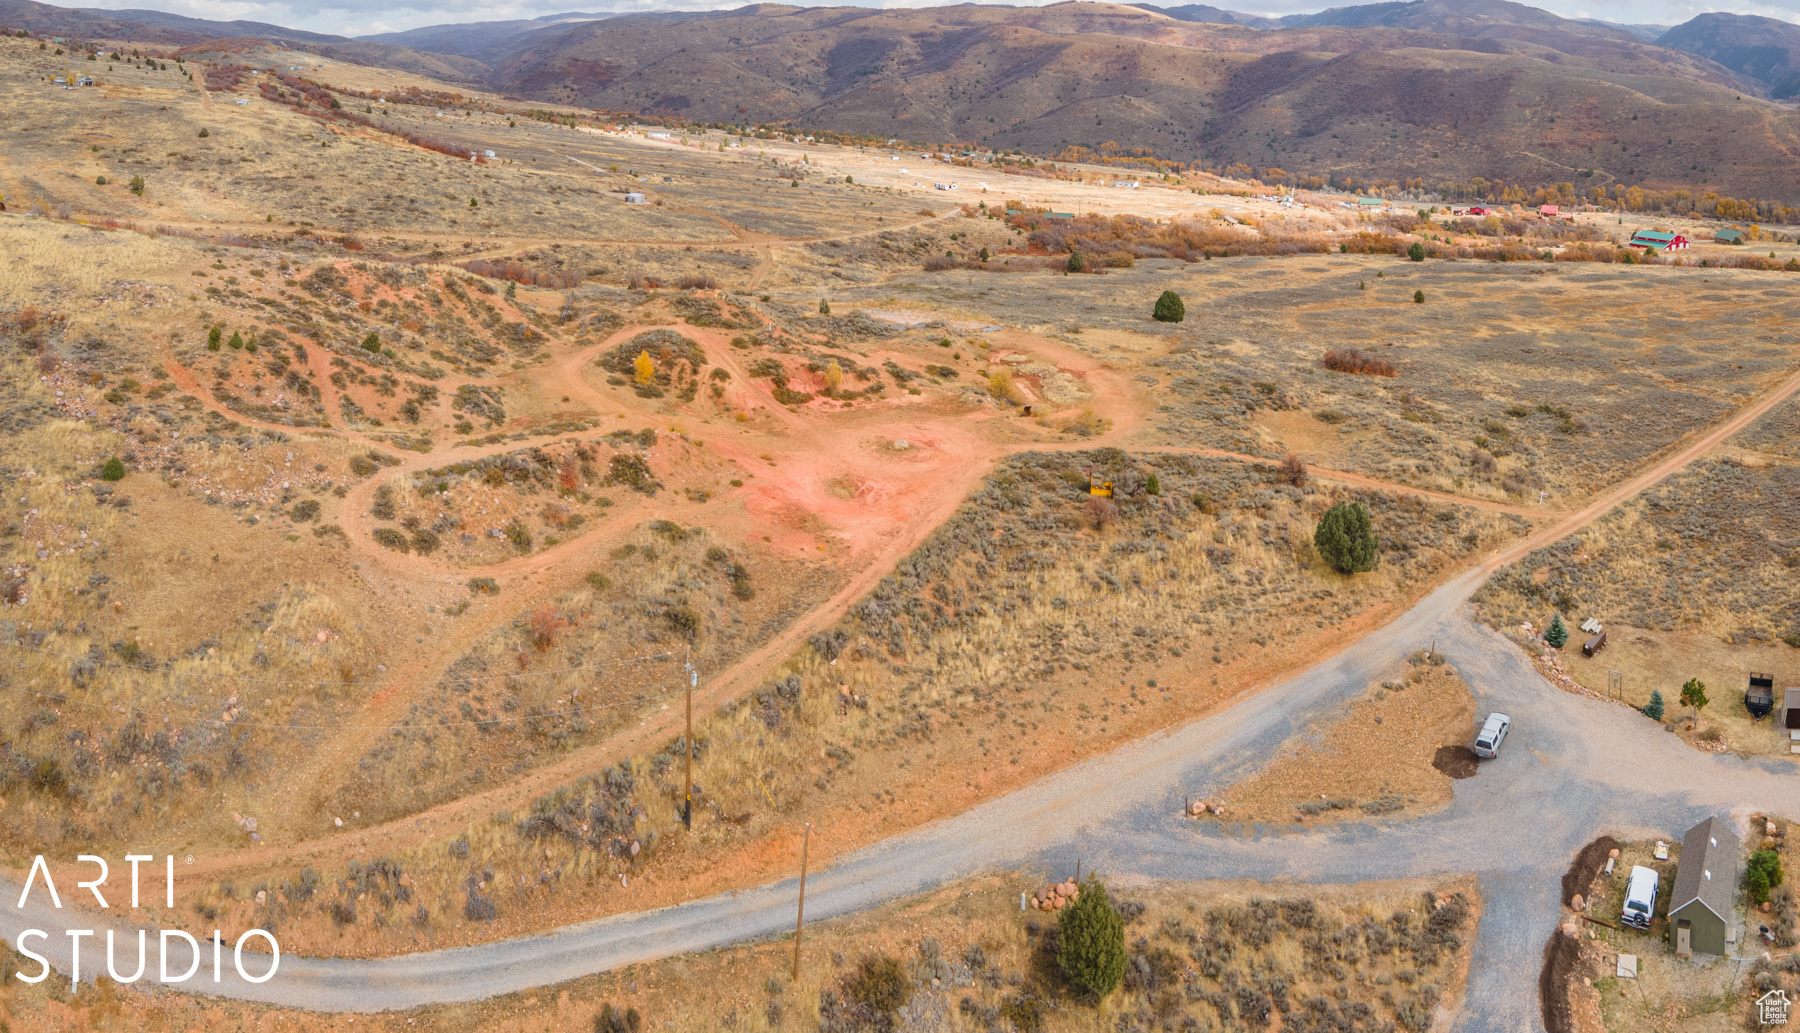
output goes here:
[{"label": "grey gravel road curving to a junction around a triangular dirt island", "polygon": [[[1438,588],[1345,653],[1211,718],[853,853],[808,878],[806,914],[860,911],[994,866],[1064,873],[1076,858],[1109,876],[1154,878],[1361,882],[1476,873],[1485,918],[1456,1029],[1541,1029],[1537,966],[1557,921],[1559,878],[1580,844],[1604,831],[1622,839],[1679,835],[1708,813],[1742,819],[1757,810],[1800,819],[1800,781],[1786,761],[1701,754],[1633,711],[1555,689],[1516,646],[1469,621],[1463,603],[1480,579],[1471,572]],[[1433,641],[1474,689],[1481,714],[1503,709],[1514,718],[1503,756],[1456,783],[1447,808],[1318,831],[1181,817],[1184,795],[1210,795],[1242,777]],[[9,900],[16,889],[0,884]],[[207,959],[185,986],[315,1011],[475,1001],[783,934],[794,918],[794,891],[787,880],[520,939],[380,961],[290,956],[277,977],[261,984],[238,979],[227,943],[221,979],[212,983]],[[31,909],[0,911],[7,941],[20,929],[56,932],[36,948],[63,974],[70,950],[59,930],[67,925],[77,923],[50,911],[41,893],[32,894]],[[185,948],[176,945],[171,954],[171,968],[187,966]],[[83,977],[104,972],[104,934],[85,939]],[[266,959],[247,959],[250,972],[265,966]]]}]

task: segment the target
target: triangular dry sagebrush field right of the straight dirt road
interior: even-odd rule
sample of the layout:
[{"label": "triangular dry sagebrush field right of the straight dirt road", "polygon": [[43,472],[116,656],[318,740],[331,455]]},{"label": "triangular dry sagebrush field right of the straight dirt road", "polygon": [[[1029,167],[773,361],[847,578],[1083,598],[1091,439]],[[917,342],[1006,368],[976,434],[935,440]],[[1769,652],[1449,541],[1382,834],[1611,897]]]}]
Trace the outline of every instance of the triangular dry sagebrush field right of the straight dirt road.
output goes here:
[{"label": "triangular dry sagebrush field right of the straight dirt road", "polygon": [[[1703,749],[1789,756],[1786,729],[1751,718],[1744,689],[1751,673],[1773,675],[1777,695],[1800,682],[1793,423],[1793,401],[1775,407],[1708,459],[1496,572],[1476,596],[1483,617],[1528,641],[1561,612],[1571,637],[1559,662],[1579,684],[1634,707],[1661,691],[1665,723]],[[1607,628],[1595,657],[1579,648],[1588,617]],[[1699,714],[1678,702],[1688,678],[1706,686]]]}]

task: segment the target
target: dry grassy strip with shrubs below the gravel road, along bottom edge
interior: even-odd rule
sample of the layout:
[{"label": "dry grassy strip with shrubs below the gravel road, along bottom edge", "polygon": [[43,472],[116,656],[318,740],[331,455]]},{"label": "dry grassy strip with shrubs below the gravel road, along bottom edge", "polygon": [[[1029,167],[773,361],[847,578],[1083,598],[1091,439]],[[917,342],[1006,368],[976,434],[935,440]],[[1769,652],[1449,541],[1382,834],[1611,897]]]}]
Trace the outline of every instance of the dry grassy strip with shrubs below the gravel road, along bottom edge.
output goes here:
[{"label": "dry grassy strip with shrubs below the gravel road, along bottom edge", "polygon": [[[1064,1033],[1102,1022],[1238,1029],[1280,1020],[1283,1029],[1370,1022],[1424,1031],[1436,1010],[1458,1006],[1481,907],[1472,880],[1454,878],[1323,887],[1111,884],[1109,896],[1129,916],[1129,968],[1120,990],[1087,1002],[1062,988],[1055,920],[1019,911],[1019,896],[1039,885],[1031,873],[977,876],[808,925],[797,981],[787,939],[635,965],[481,1004],[358,1015],[353,1024],[189,997],[158,999],[133,1015],[173,1029],[272,1033],[320,1022],[374,1031],[589,1033],[605,1010],[621,1026],[635,1015],[641,1029],[682,1033],[851,1029],[868,1028],[844,1017],[859,1002],[864,963],[893,959],[902,1002],[880,1019],[902,1029],[974,1033],[1006,1024]],[[13,961],[5,957],[0,974],[9,975]],[[52,983],[25,988],[7,979],[0,988],[0,1008],[13,1022],[45,1031],[115,1028],[119,1001],[104,979],[76,995],[67,983],[54,990]]]}]

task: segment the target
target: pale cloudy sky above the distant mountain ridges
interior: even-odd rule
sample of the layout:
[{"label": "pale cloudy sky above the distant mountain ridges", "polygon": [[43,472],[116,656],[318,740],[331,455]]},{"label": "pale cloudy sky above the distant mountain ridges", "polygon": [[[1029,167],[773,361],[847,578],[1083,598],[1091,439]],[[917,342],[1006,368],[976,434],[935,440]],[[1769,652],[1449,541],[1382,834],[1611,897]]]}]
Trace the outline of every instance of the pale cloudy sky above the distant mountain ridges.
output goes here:
[{"label": "pale cloudy sky above the distant mountain ridges", "polygon": [[[61,0],[59,7],[101,7],[101,9],[126,9],[126,7],[153,7],[157,11],[167,11],[171,14],[185,14],[189,18],[209,18],[216,22],[268,22],[274,25],[286,25],[290,29],[308,29],[313,32],[333,32],[338,36],[367,36],[376,32],[396,32],[401,29],[416,29],[419,25],[439,25],[445,22],[502,22],[513,18],[538,18],[544,14],[556,14],[562,11],[614,11],[614,13],[637,13],[637,11],[711,11],[720,9],[720,0],[592,0],[581,4],[576,0],[556,2],[556,0],[432,0],[425,7],[409,5],[416,0],[387,0],[382,4],[374,2],[356,2],[356,0]],[[745,0],[749,2],[749,0]],[[857,7],[932,7],[943,2],[956,0],[787,0],[790,4],[812,5],[812,4],[837,4],[837,5],[857,5]],[[1017,5],[1037,5],[1049,4],[1053,0],[1013,0]],[[1121,0],[1132,2],[1132,0]],[[1152,0],[1145,0],[1152,2]],[[1161,0],[1163,5],[1175,5],[1190,0]],[[1201,0],[1204,2],[1204,0]],[[1247,11],[1255,14],[1298,14],[1319,11],[1323,7],[1346,7],[1357,4],[1359,0],[1328,0],[1305,2],[1305,0],[1253,0],[1244,4],[1233,4],[1229,0],[1211,0],[1215,7],[1226,7],[1231,11]],[[1363,0],[1368,2],[1368,0]],[[727,0],[729,7],[738,7],[734,0]],[[1780,18],[1784,22],[1800,22],[1800,0],[1775,0],[1775,2],[1746,2],[1735,5],[1719,4],[1688,4],[1683,0],[1543,0],[1532,4],[1534,7],[1543,7],[1564,18],[1602,18],[1607,22],[1631,22],[1631,23],[1654,23],[1654,25],[1679,25],[1688,18],[1706,13],[1706,11],[1730,11],[1735,14],[1762,14],[1768,18]]]}]

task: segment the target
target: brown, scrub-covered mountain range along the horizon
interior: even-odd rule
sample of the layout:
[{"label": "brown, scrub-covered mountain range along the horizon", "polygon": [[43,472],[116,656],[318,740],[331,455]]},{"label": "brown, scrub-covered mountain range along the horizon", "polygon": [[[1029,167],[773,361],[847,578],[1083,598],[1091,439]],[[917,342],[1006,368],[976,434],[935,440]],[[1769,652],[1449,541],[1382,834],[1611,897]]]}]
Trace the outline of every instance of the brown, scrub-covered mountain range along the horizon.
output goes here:
[{"label": "brown, scrub-covered mountain range along the horizon", "polygon": [[1260,18],[1208,5],[749,5],[565,13],[362,40],[0,0],[0,25],[261,38],[518,99],[1028,153],[1152,153],[1334,178],[1476,176],[1800,198],[1800,27],[1670,29],[1508,0]]}]

